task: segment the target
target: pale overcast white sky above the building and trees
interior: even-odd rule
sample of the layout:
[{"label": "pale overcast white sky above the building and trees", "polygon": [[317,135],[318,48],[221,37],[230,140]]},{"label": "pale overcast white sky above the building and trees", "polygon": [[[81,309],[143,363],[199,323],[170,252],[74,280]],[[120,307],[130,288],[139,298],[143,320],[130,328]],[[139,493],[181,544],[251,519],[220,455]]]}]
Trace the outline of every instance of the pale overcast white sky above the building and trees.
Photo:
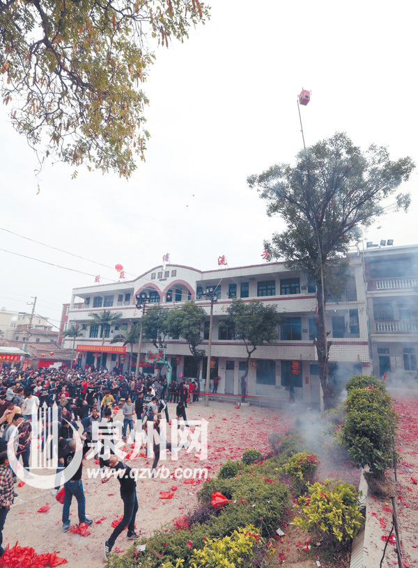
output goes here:
[{"label": "pale overcast white sky above the building and trees", "polygon": [[[129,181],[36,157],[0,107],[0,248],[114,279],[114,269],[54,251],[25,237],[133,278],[170,262],[201,270],[262,262],[263,239],[284,230],[269,219],[247,177],[292,162],[307,145],[347,132],[356,145],[387,145],[393,159],[418,163],[416,22],[412,1],[284,2],[211,0],[211,18],[183,44],[157,48],[144,84],[151,134],[146,163]],[[382,217],[365,240],[418,243],[418,170],[403,190],[408,214]],[[40,193],[37,195],[37,185]],[[0,308],[36,312],[58,326],[73,287],[93,276],[0,251]],[[107,282],[102,280],[102,282]]]}]

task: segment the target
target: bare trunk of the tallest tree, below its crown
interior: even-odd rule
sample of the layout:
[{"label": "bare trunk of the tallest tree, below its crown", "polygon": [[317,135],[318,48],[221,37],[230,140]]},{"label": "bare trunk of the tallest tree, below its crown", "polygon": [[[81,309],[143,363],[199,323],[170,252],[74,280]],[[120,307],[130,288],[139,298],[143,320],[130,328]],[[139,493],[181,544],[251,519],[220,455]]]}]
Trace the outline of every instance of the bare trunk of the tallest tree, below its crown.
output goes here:
[{"label": "bare trunk of the tallest tree, below its crown", "polygon": [[318,314],[314,322],[316,324],[317,338],[314,341],[314,345],[318,355],[319,377],[320,384],[323,388],[324,407],[325,409],[330,409],[334,407],[335,404],[335,393],[331,384],[330,368],[328,365],[328,354],[332,342],[326,339],[327,329],[323,310],[323,297],[321,287],[318,283],[316,284],[316,299],[318,301]]}]

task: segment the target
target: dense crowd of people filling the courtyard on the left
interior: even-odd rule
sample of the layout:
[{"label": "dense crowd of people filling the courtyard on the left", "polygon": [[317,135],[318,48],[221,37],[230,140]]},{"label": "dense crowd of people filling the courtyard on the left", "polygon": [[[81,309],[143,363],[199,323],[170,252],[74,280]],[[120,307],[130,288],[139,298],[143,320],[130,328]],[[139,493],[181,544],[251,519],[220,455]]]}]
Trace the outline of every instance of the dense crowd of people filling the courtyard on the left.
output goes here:
[{"label": "dense crowd of people filling the courtyard on the left", "polygon": [[[164,413],[169,421],[169,404],[176,404],[176,418],[184,420],[187,427],[185,409],[191,402],[199,402],[198,381],[181,379],[169,381],[167,377],[139,374],[137,379],[132,374],[121,374],[118,368],[109,372],[107,368],[86,367],[41,368],[26,371],[6,369],[0,372],[0,557],[3,555],[3,528],[6,516],[17,497],[15,472],[10,468],[8,459],[8,442],[14,444],[17,459],[22,459],[26,471],[30,472],[31,439],[33,435],[41,438],[42,451],[46,447],[41,432],[37,432],[38,422],[32,423],[33,413],[38,416],[41,407],[44,416],[47,409],[55,407],[58,416],[58,468],[56,470],[56,487],[52,494],[56,495],[61,487],[59,474],[72,463],[78,450],[73,436],[79,431],[83,442],[83,454],[93,447],[93,429],[95,423],[109,425],[109,436],[113,436],[112,415],[121,409],[123,416],[123,441],[134,432],[134,421],[141,420],[142,427],[153,421],[153,448],[155,459],[153,475],[160,457],[160,417]],[[33,429],[33,432],[32,432]],[[167,442],[167,441],[166,441]],[[170,443],[167,448],[171,450]],[[135,516],[138,510],[136,482],[130,475],[130,467],[118,459],[111,450],[105,454],[104,445],[99,459],[100,468],[111,468],[118,473],[123,500],[123,519],[114,528],[109,539],[104,542],[104,555],[108,557],[116,538],[127,526],[127,538],[135,539]],[[63,483],[63,532],[70,528],[70,505],[75,497],[78,505],[79,523],[91,525],[93,521],[86,516],[86,499],[82,484],[83,461],[72,474],[70,480]],[[109,477],[102,478],[102,482]]]}]

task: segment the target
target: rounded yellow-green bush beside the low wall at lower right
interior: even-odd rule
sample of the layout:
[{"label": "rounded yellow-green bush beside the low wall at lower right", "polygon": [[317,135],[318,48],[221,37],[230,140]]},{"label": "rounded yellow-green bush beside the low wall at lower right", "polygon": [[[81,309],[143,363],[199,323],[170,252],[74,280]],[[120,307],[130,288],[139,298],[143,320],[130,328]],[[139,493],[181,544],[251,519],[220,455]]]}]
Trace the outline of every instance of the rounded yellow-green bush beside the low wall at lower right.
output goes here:
[{"label": "rounded yellow-green bush beside the low wall at lower right", "polygon": [[294,523],[304,530],[322,532],[332,546],[348,544],[364,520],[358,499],[359,492],[350,483],[315,483],[309,487],[309,496],[299,498],[301,514]]}]

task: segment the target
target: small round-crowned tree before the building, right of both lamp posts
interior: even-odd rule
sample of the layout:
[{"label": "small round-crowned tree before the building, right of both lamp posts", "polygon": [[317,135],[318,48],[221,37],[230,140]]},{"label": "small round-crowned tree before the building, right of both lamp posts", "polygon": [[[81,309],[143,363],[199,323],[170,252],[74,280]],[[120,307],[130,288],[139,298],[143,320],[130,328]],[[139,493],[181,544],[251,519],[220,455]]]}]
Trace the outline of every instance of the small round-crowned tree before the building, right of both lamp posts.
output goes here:
[{"label": "small round-crowned tree before the building, right of both lamp posts", "polygon": [[277,326],[283,323],[284,317],[277,313],[275,306],[265,306],[258,300],[244,302],[242,299],[233,300],[226,314],[219,325],[234,329],[235,337],[244,343],[247,350],[247,365],[241,377],[243,383],[248,375],[251,355],[259,345],[277,340]]}]

